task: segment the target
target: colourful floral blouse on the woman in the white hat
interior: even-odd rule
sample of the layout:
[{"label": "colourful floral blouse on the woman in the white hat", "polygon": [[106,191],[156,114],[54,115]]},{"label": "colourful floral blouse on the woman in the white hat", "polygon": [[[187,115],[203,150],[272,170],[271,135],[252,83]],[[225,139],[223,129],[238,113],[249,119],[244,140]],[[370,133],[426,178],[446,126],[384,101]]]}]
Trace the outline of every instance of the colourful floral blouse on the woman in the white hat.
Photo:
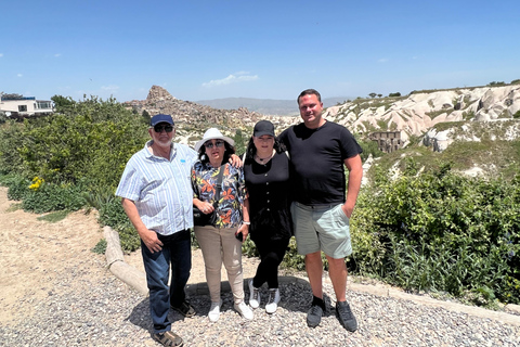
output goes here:
[{"label": "colourful floral blouse on the woman in the white hat", "polygon": [[[192,167],[193,197],[213,204],[220,168],[197,162]],[[242,222],[242,205],[247,196],[244,170],[225,164],[222,190],[217,204],[217,228],[234,228]]]}]

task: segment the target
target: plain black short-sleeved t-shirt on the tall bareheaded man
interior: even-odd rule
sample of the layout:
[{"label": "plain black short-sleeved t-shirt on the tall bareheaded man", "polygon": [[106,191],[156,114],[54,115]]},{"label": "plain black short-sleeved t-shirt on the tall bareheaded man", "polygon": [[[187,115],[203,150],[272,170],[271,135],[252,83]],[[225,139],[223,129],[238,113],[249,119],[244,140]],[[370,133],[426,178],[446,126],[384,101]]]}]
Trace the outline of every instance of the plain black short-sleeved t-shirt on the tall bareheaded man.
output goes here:
[{"label": "plain black short-sleeved t-shirt on the tall bareheaded man", "polygon": [[326,121],[309,129],[301,123],[282,132],[280,140],[290,154],[295,201],[310,206],[344,203],[343,162],[362,152],[347,128]]}]

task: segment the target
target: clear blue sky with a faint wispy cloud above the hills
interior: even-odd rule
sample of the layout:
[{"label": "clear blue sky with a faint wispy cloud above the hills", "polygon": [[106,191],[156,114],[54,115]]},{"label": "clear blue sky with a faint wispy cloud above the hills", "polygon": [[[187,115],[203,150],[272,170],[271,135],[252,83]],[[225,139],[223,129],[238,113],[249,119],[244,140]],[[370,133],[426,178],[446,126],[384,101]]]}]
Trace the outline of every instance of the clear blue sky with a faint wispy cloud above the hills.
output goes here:
[{"label": "clear blue sky with a faint wispy cloud above the hills", "polygon": [[144,100],[387,95],[520,78],[520,1],[2,3],[0,91]]}]

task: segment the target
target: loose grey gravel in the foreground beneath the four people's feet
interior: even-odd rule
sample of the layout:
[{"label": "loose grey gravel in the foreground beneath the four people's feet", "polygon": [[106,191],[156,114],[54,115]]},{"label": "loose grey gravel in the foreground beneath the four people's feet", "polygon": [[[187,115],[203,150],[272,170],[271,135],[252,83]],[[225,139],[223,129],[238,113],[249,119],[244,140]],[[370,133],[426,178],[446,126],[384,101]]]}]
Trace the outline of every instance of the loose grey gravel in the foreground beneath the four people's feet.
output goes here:
[{"label": "loose grey gravel in the foreground beneath the four people's feet", "polygon": [[[47,298],[29,303],[34,314],[0,327],[0,345],[159,346],[151,339],[147,298],[103,269],[102,258],[92,261],[99,270],[65,268]],[[334,307],[329,284],[325,291],[333,296],[326,297],[328,307]],[[276,313],[268,314],[262,305],[255,319],[246,321],[233,311],[231,293],[224,292],[223,312],[216,323],[206,317],[209,297],[192,295],[197,316],[186,319],[171,312],[172,330],[185,346],[520,346],[518,326],[354,292],[349,300],[360,325],[355,333],[340,326],[334,309],[320,326],[310,329],[306,324],[309,285],[284,283],[281,294]]]}]

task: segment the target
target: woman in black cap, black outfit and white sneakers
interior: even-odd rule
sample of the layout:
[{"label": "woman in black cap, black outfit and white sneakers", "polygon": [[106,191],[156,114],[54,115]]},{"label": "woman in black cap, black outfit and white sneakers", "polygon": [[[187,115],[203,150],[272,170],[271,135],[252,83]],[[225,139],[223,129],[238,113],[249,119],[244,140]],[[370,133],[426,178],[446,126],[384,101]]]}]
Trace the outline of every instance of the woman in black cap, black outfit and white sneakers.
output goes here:
[{"label": "woman in black cap, black outfit and white sneakers", "polygon": [[260,265],[249,281],[249,306],[260,306],[259,288],[268,283],[268,313],[280,303],[278,266],[292,235],[289,158],[274,137],[271,121],[260,120],[247,146],[244,175],[249,193],[249,235],[260,254]]}]

